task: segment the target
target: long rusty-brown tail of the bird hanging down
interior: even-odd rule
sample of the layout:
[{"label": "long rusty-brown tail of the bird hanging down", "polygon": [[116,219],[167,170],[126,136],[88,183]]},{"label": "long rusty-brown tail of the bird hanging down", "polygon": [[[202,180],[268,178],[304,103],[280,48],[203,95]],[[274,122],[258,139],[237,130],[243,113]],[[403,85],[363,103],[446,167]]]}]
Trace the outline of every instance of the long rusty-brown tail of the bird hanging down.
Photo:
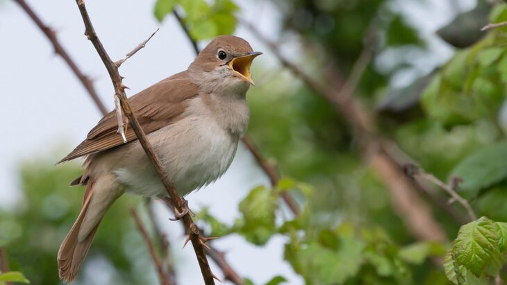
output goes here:
[{"label": "long rusty-brown tail of the bird hanging down", "polygon": [[107,175],[88,180],[81,213],[58,250],[58,275],[72,282],[97,234],[106,210],[122,195],[114,178]]}]

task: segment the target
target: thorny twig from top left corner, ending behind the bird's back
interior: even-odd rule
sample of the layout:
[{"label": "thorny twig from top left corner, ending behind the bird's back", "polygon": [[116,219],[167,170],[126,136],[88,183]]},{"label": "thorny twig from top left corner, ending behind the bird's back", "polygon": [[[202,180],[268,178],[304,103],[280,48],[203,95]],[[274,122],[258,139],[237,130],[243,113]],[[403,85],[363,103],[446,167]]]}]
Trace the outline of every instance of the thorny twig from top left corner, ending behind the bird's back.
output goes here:
[{"label": "thorny twig from top left corner, ending behind the bird's back", "polygon": [[77,67],[74,60],[70,58],[69,53],[67,53],[67,51],[63,49],[63,46],[60,44],[60,42],[58,42],[58,39],[56,38],[55,31],[53,31],[53,29],[50,28],[49,26],[45,25],[24,0],[15,0],[15,1],[19,4],[19,6],[23,8],[26,14],[28,14],[28,16],[31,17],[31,19],[35,22],[35,24],[37,24],[37,26],[40,28],[42,33],[46,35],[51,44],[53,44],[53,49],[55,50],[55,53],[60,55],[63,58],[63,60],[67,63],[67,65],[70,67],[70,69],[72,69],[72,72],[76,74],[81,84],[83,84],[83,87],[85,87],[86,91],[88,91],[88,94],[94,101],[95,105],[97,105],[97,107],[99,108],[99,111],[103,115],[108,114],[108,110],[106,109],[106,107],[104,107],[103,103],[101,102],[99,95],[97,94],[97,91],[93,86],[92,80],[90,80],[88,76],[85,76],[85,74],[83,74],[81,69]]}]

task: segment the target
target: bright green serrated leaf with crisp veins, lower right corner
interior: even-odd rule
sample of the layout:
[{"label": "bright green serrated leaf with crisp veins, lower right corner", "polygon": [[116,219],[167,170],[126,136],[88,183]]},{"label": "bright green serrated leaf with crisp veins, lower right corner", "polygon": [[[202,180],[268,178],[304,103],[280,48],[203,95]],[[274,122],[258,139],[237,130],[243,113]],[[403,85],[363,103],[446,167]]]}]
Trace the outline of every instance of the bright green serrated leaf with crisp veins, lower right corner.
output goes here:
[{"label": "bright green serrated leaf with crisp veins, lower right corner", "polygon": [[463,225],[453,242],[455,266],[464,266],[477,277],[483,272],[496,275],[504,262],[497,229],[493,221],[485,217]]}]

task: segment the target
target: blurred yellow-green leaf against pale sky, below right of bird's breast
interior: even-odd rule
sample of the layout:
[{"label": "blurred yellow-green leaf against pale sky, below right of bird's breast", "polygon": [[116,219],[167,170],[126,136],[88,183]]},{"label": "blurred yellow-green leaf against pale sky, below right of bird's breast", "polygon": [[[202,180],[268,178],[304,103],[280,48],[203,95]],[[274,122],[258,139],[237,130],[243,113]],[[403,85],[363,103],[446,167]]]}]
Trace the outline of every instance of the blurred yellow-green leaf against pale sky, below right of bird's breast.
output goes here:
[{"label": "blurred yellow-green leaf against pale sky, below right of bird's breast", "polygon": [[276,232],[275,211],[278,209],[278,195],[275,191],[260,186],[250,191],[240,202],[243,220],[238,232],[256,245],[267,243]]}]

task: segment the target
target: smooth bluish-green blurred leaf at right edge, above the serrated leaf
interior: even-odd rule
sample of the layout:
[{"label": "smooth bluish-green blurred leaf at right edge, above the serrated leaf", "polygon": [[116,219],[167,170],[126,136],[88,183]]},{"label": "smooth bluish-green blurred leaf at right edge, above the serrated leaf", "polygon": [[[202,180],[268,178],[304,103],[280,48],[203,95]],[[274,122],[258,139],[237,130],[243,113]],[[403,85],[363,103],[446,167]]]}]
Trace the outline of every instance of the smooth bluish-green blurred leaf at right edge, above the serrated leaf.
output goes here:
[{"label": "smooth bluish-green blurred leaf at right edge, above the serrated leaf", "polygon": [[460,191],[472,198],[481,189],[492,186],[507,177],[507,142],[483,148],[460,162],[451,177],[463,179]]}]

